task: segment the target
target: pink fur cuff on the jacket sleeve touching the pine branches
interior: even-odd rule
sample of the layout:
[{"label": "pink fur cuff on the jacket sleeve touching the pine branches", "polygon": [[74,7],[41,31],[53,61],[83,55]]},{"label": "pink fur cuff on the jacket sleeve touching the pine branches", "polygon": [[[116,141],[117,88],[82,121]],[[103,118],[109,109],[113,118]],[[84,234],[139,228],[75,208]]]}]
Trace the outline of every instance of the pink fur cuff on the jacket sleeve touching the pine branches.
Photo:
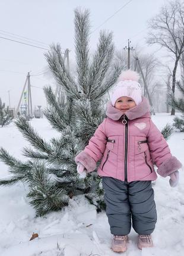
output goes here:
[{"label": "pink fur cuff on the jacket sleeve touching the pine branches", "polygon": [[81,151],[80,154],[78,154],[75,157],[75,163],[83,164],[83,166],[86,168],[88,173],[96,169],[96,161],[94,161],[94,159],[90,157],[90,155],[87,154],[85,151]]}]

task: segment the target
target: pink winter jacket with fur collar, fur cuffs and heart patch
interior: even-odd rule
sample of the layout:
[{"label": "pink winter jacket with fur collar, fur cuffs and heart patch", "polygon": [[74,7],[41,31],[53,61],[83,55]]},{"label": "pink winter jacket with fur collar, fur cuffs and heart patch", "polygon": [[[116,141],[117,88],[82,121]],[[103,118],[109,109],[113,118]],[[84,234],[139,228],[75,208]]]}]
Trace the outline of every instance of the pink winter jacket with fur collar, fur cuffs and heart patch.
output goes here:
[{"label": "pink winter jacket with fur collar, fur cuffs and heart patch", "polygon": [[[166,140],[150,117],[150,106],[146,98],[134,108],[126,111],[126,116],[109,103],[107,118],[97,128],[84,151],[75,157],[87,172],[96,169],[100,176],[119,180],[156,180],[157,173],[168,176],[182,167],[170,153]],[[127,123],[126,123],[126,121]],[[126,123],[126,124],[123,124]]]}]

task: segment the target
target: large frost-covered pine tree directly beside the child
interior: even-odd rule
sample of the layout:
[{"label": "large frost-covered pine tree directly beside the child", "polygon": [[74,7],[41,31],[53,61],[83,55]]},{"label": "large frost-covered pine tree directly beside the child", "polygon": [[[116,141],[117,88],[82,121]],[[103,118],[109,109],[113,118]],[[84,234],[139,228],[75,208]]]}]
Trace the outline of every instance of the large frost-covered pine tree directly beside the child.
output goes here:
[{"label": "large frost-covered pine tree directly beside the child", "polygon": [[75,54],[77,77],[72,77],[64,64],[61,47],[52,45],[46,54],[50,71],[62,88],[62,101],[58,101],[52,88],[45,88],[49,108],[45,116],[60,133],[59,138],[46,142],[24,117],[15,124],[30,143],[24,148],[26,162],[17,160],[1,148],[0,159],[9,166],[10,179],[0,185],[27,183],[30,204],[37,216],[60,210],[69,198],[84,193],[97,210],[104,208],[101,179],[96,172],[79,179],[75,155],[84,149],[97,126],[105,117],[104,97],[118,79],[119,65],[110,67],[114,46],[112,33],[101,32],[93,59],[89,53],[89,12],[75,10]]}]

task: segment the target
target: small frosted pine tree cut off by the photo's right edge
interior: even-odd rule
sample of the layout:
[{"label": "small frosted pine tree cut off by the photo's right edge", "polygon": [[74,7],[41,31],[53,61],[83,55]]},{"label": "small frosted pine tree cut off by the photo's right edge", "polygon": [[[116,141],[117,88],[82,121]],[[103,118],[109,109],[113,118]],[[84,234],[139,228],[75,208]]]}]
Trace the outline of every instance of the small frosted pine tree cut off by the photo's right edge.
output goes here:
[{"label": "small frosted pine tree cut off by the photo's right edge", "polygon": [[179,110],[182,113],[182,117],[175,117],[173,120],[175,123],[173,126],[180,130],[180,132],[184,132],[184,77],[182,77],[182,82],[176,83],[177,88],[179,88],[180,92],[183,95],[183,98],[176,99],[172,94],[169,95],[169,105],[171,105],[176,110]]}]

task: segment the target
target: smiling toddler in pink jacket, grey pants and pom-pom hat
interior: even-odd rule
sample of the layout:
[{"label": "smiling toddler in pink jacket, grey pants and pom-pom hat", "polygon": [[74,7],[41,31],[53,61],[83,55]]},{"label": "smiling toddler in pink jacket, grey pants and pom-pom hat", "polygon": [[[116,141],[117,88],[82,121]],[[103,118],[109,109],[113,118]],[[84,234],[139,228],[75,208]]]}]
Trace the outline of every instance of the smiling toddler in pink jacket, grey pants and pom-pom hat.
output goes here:
[{"label": "smiling toddler in pink jacket, grey pants and pom-pom hat", "polygon": [[128,70],[120,75],[106,115],[84,151],[75,157],[78,173],[94,171],[101,160],[98,174],[114,235],[113,251],[126,251],[131,224],[138,233],[138,248],[151,247],[157,221],[151,187],[151,181],[157,179],[153,164],[162,177],[170,176],[170,186],[177,185],[177,170],[182,164],[151,121],[136,72]]}]

